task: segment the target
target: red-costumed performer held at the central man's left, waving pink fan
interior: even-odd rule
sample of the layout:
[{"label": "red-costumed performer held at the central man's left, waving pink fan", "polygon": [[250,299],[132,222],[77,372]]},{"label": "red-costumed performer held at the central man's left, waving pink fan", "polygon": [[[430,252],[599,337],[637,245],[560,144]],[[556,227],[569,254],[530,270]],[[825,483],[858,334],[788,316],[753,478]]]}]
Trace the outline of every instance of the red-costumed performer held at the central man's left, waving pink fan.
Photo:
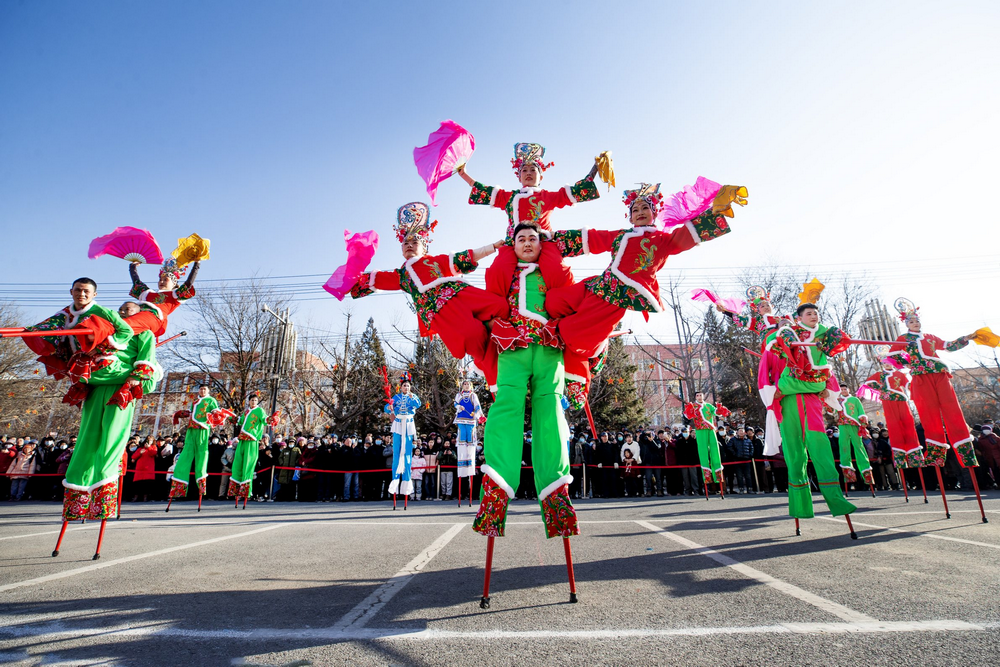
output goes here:
[{"label": "red-costumed performer held at the central man's left, waving pink fan", "polygon": [[[400,206],[393,229],[402,247],[403,266],[395,271],[361,272],[367,262],[348,268],[352,265],[349,257],[348,264],[338,269],[324,288],[338,299],[348,293],[359,299],[374,294],[375,290],[405,291],[416,308],[420,335],[437,334],[456,359],[471,355],[493,384],[496,357],[489,349],[485,323],[505,317],[507,302],[468,284],[462,274],[475,271],[479,260],[493,254],[500,243],[452,255],[428,255],[436,225],[436,221],[430,221],[427,204],[410,202]],[[366,252],[365,257],[370,259],[378,236],[374,236],[374,242],[357,240],[360,236],[348,239],[348,252]]]}]

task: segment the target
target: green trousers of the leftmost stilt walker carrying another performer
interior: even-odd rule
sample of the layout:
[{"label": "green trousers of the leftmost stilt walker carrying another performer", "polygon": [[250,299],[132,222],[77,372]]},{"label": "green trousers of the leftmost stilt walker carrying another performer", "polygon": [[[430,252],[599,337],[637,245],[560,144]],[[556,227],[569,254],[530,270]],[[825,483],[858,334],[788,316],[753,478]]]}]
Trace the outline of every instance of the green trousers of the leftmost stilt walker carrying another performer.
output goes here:
[{"label": "green trousers of the leftmost stilt walker carrying another performer", "polygon": [[[92,386],[80,414],[80,432],[73,456],[66,468],[63,486],[76,491],[93,491],[110,482],[118,482],[118,465],[132,429],[135,402],[124,410],[108,401],[117,386]],[[117,487],[116,487],[117,489]]]}]

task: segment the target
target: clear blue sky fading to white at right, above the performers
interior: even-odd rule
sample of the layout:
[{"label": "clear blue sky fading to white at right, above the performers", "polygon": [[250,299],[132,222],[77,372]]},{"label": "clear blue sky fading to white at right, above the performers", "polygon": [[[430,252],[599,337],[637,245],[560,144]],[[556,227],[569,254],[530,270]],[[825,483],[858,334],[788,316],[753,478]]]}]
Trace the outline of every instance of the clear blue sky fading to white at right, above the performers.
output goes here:
[{"label": "clear blue sky fading to white at right, above the performers", "polygon": [[[998,29],[996,2],[0,3],[0,297],[39,319],[89,274],[116,303],[126,264],[87,246],[131,225],[165,253],[210,238],[206,288],[270,276],[312,333],[348,307],[412,329],[402,295],[319,286],[345,227],[399,265],[396,208],[427,199],[412,149],[451,118],[476,136],[469,172],[506,187],[516,141],[547,147],[550,186],[613,151],[618,188],[556,227],[623,225],[641,180],[746,185],[734,232],[668,263],[687,288],[769,258],[868,271],[925,330],[1000,331]],[[467,196],[442,186],[434,251],[502,236]]]}]

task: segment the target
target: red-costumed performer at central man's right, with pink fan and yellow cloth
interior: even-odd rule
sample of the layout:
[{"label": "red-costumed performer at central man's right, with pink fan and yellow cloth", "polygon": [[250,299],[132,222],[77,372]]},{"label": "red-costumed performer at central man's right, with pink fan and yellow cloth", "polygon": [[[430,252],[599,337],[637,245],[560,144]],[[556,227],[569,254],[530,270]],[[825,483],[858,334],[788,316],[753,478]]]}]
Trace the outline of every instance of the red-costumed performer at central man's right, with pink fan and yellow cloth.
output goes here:
[{"label": "red-costumed performer at central man's right, with pink fan and yellow cloth", "polygon": [[[545,298],[546,310],[559,318],[567,352],[583,359],[597,357],[626,311],[641,312],[646,319],[651,312],[662,312],[656,272],[671,255],[728,234],[726,217],[732,215],[732,203],[746,203],[745,195],[745,188],[719,186],[705,178],[666,205],[659,184],[626,190],[623,201],[632,227],[584,234],[584,252],[611,252],[611,264],[598,276],[550,289]],[[674,228],[660,231],[657,224]],[[588,379],[568,378],[567,397],[576,407],[587,394]]]}]

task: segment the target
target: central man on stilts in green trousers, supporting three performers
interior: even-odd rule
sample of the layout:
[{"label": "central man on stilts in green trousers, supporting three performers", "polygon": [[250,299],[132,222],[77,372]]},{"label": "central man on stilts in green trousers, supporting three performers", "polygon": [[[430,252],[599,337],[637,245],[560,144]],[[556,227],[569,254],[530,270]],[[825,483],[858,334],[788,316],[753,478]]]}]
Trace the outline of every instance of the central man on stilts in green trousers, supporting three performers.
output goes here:
[{"label": "central man on stilts in green trousers, supporting three performers", "polygon": [[[524,409],[530,390],[531,429],[534,440],[531,465],[535,489],[545,522],[546,537],[564,541],[570,577],[570,602],[576,602],[569,536],[578,535],[576,511],[569,497],[569,426],[563,413],[565,384],[561,342],[545,310],[545,280],[538,269],[541,234],[535,225],[519,224],[514,229],[514,252],[518,272],[506,287],[511,308],[509,322],[494,325],[494,337],[503,332],[498,364],[496,401],[490,408],[483,436],[486,463],[483,489],[473,530],[489,538],[486,578],[480,605],[489,606],[489,578],[493,543],[504,535],[507,505],[521,478],[524,445]],[[489,277],[487,285],[493,283]]]}]

